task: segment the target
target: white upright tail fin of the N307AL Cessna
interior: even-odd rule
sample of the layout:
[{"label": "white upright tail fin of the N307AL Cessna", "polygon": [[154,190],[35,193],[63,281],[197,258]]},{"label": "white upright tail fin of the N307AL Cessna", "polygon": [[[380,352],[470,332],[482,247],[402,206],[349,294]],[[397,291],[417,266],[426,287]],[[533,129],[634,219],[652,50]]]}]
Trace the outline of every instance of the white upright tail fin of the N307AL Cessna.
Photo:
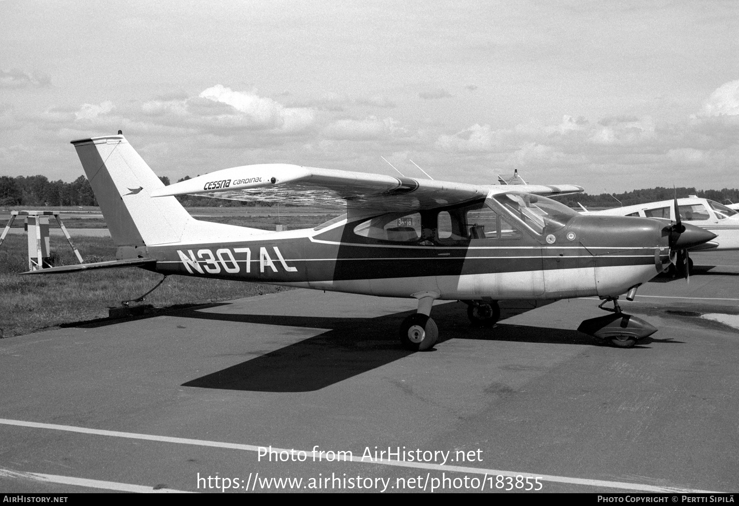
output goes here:
[{"label": "white upright tail fin of the N307AL Cessna", "polygon": [[123,135],[73,140],[118,247],[179,242],[194,221],[174,196],[151,198],[164,183]]}]

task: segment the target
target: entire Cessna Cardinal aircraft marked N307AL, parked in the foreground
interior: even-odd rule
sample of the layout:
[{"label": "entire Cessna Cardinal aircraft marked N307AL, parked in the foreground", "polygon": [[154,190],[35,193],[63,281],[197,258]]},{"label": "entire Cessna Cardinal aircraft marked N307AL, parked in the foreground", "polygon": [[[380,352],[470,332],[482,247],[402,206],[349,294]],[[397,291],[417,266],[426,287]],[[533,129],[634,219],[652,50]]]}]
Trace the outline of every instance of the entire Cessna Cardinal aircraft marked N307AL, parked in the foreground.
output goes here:
[{"label": "entire Cessna Cardinal aircraft marked N307AL, parked in the foreground", "polygon": [[[143,267],[182,274],[418,299],[403,321],[409,349],[438,335],[435,300],[468,304],[474,324],[491,325],[500,299],[597,295],[614,314],[581,329],[631,346],[655,328],[621,313],[616,298],[670,263],[670,251],[713,239],[690,225],[655,219],[580,216],[546,195],[574,185],[468,185],[267,164],[227,168],[165,186],[123,135],[75,140],[118,260],[35,270],[61,273]],[[322,190],[347,213],[306,230],[268,232],[192,218],[173,195],[250,188]],[[601,306],[603,306],[601,304]],[[604,308],[605,309],[605,308]]]}]

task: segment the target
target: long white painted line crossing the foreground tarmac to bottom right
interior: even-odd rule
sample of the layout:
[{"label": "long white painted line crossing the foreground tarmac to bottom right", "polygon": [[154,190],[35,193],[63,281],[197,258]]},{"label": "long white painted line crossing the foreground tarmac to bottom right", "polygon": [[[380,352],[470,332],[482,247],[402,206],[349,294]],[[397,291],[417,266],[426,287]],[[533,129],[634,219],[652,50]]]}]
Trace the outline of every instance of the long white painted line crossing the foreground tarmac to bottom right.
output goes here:
[{"label": "long white painted line crossing the foreground tarmac to bottom right", "polygon": [[[0,418],[0,424],[3,425],[18,425],[21,427],[33,427],[33,428],[47,428],[55,431],[67,431],[67,432],[79,432],[82,434],[95,434],[98,436],[110,436],[110,437],[124,437],[133,440],[148,440],[148,441],[159,441],[159,442],[174,442],[181,445],[197,445],[197,446],[211,446],[214,448],[229,448],[233,450],[246,450],[246,451],[259,451],[266,450],[265,446],[256,445],[245,445],[242,443],[235,442],[222,442],[222,441],[208,441],[208,440],[193,440],[185,437],[170,437],[170,436],[155,436],[153,434],[137,434],[135,432],[121,432],[121,431],[106,431],[99,428],[86,428],[76,427],[75,425],[57,425],[55,423],[38,423],[38,422],[27,422],[24,420],[9,420],[7,418]],[[270,447],[271,451],[276,451],[278,454],[287,452],[288,456],[290,452],[297,454],[299,451],[304,451],[307,456],[313,454],[310,450],[295,450],[294,448],[273,448]],[[566,483],[569,485],[587,485],[589,487],[605,487],[605,488],[617,488],[622,490],[634,490],[638,492],[663,492],[663,493],[721,493],[715,490],[695,490],[690,488],[677,488],[677,487],[659,487],[655,485],[646,485],[642,483],[630,483],[630,482],[611,482],[602,479],[585,479],[585,478],[572,478],[570,476],[554,476],[551,474],[538,474],[538,473],[525,473],[521,471],[503,471],[500,469],[484,469],[484,468],[470,468],[462,465],[440,465],[440,464],[429,464],[426,462],[403,462],[394,460],[370,460],[362,459],[361,457],[347,458],[344,462],[358,462],[361,464],[375,464],[375,465],[390,465],[400,468],[420,468],[428,469],[432,471],[454,471],[457,473],[474,473],[484,474],[486,478],[490,476],[511,476],[516,478],[517,476],[529,476],[531,478],[537,477],[545,482],[556,482]]]}]

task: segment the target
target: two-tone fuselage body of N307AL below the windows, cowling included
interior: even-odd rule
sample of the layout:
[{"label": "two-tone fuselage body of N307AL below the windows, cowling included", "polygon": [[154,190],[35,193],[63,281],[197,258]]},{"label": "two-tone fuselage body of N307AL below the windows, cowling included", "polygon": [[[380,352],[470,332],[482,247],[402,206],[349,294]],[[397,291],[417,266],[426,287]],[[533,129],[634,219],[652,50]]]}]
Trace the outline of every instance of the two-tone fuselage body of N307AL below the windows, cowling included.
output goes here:
[{"label": "two-tone fuselage body of N307AL below the windows, cowling included", "polygon": [[667,236],[652,219],[576,216],[539,236],[404,244],[357,235],[361,221],[147,251],[163,274],[395,297],[429,292],[447,300],[616,296],[670,261]]}]

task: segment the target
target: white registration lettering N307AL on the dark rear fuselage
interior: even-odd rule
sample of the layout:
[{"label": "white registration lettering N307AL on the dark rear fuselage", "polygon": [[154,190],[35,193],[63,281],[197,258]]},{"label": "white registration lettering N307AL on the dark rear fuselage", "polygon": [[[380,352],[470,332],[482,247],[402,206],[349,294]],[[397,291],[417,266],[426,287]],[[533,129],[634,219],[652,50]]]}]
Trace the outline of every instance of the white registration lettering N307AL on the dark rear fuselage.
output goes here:
[{"label": "white registration lettering N307AL on the dark rear fuselage", "polygon": [[[282,264],[282,268],[286,272],[297,272],[297,267],[287,265],[287,261],[283,258],[278,247],[273,246],[272,249],[277,256],[277,261]],[[245,253],[246,258],[236,260],[234,253]],[[208,249],[197,250],[197,253],[194,253],[193,250],[187,250],[187,254],[183,253],[182,250],[177,250],[177,255],[180,256],[185,269],[191,274],[219,274],[221,270],[229,274],[236,274],[241,271],[239,262],[243,262],[246,266],[246,272],[251,273],[251,249],[248,247],[234,247],[234,253],[231,253],[228,247],[216,250],[215,255]],[[274,273],[277,272],[277,266],[270,257],[267,248],[259,247],[259,272],[265,272],[265,267],[269,267]]]}]

